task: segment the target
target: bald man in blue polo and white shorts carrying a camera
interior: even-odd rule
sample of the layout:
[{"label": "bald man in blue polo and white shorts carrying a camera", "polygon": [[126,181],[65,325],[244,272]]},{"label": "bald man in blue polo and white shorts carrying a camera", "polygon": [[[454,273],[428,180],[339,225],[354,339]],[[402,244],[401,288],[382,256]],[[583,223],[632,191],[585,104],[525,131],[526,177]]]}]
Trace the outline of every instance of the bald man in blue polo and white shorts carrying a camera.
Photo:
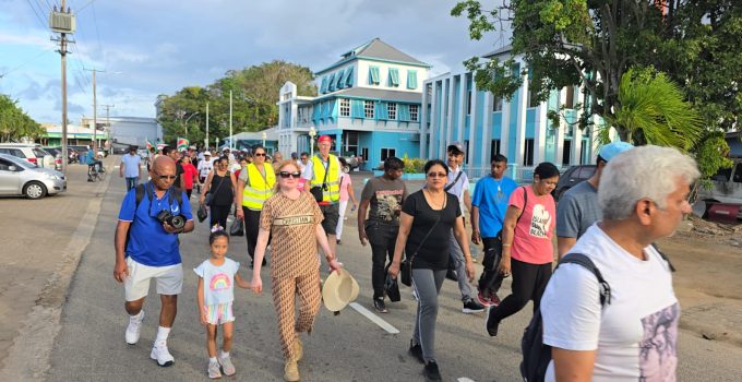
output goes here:
[{"label": "bald man in blue polo and white shorts carrying a camera", "polygon": [[[168,351],[167,336],[176,319],[178,295],[183,284],[178,234],[192,231],[194,225],[185,193],[172,187],[177,178],[175,162],[167,156],[158,156],[149,176],[152,181],[143,184],[145,192],[141,201],[136,202],[136,189],[132,189],[121,204],[116,227],[113,278],[124,284],[124,308],[129,313],[125,341],[130,345],[139,341],[144,298],[149,291],[151,279],[156,280],[161,310],[157,338],[149,357],[159,366],[170,366],[175,359]],[[180,198],[173,195],[175,190],[181,192]],[[187,220],[185,226],[177,229],[160,223],[156,216],[161,211],[182,215]]]}]

